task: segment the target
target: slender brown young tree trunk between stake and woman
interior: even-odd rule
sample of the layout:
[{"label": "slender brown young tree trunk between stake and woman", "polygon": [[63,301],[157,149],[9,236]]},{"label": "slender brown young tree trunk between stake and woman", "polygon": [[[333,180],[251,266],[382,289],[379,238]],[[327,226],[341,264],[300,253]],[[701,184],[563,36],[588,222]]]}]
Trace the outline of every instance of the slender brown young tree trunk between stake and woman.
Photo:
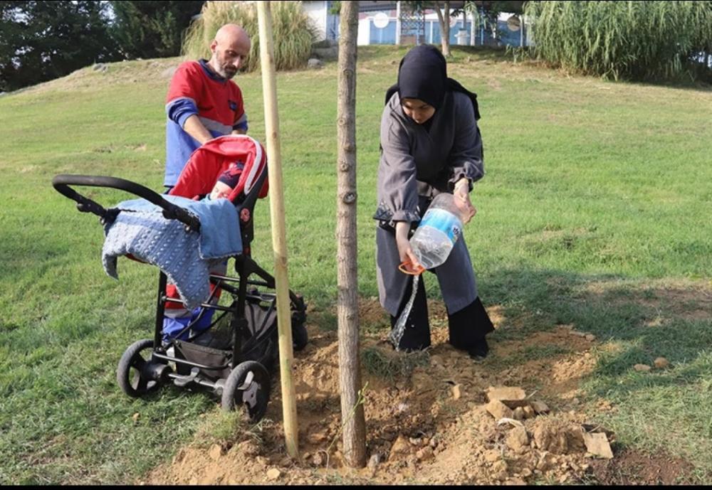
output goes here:
[{"label": "slender brown young tree trunk between stake and woman", "polygon": [[344,457],[366,464],[366,422],[361,390],[356,234],[356,39],[358,1],[341,4],[337,110],[337,316]]}]

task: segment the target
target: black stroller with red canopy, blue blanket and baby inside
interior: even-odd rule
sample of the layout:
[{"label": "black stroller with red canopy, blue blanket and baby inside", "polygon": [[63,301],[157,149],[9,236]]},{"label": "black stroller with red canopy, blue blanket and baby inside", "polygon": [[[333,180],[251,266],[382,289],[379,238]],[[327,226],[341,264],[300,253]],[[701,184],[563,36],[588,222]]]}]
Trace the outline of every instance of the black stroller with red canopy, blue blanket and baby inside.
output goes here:
[{"label": "black stroller with red canopy, blue blanket and baby inside", "polygon": [[[142,199],[105,209],[72,185],[118,188]],[[140,397],[169,383],[210,388],[224,410],[244,407],[250,420],[260,420],[269,398],[269,371],[278,356],[276,294],[270,291],[275,280],[253,260],[250,247],[253,207],[268,191],[261,144],[244,135],[207,142],[192,154],[168,195],[105,176],[58,175],[53,186],[76,201],[79,211],[100,216],[107,273],[115,272],[120,255],[159,266],[154,335],[133,343],[120,359],[117,383],[122,390]],[[192,245],[182,246],[184,240]],[[229,257],[234,257],[236,277],[214,267],[216,260],[225,265]],[[197,282],[206,283],[196,288],[182,275],[193,262],[200,262],[195,268],[204,272]],[[222,292],[229,297],[219,302]],[[293,346],[299,350],[308,341],[306,306],[291,291],[289,299]],[[213,319],[215,311],[219,314]],[[186,317],[166,329],[167,319]]]}]

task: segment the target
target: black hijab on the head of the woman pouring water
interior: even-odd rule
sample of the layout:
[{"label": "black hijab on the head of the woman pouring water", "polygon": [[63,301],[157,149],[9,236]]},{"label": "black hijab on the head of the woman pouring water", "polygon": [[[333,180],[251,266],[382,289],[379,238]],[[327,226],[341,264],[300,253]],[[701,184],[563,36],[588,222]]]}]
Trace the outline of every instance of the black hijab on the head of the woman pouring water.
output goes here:
[{"label": "black hijab on the head of the woman pouring water", "polygon": [[435,46],[422,44],[409,50],[398,68],[398,82],[386,92],[386,103],[398,92],[401,100],[419,99],[438,110],[446,92],[462,92],[472,101],[475,119],[480,119],[477,95],[447,77],[445,57]]}]

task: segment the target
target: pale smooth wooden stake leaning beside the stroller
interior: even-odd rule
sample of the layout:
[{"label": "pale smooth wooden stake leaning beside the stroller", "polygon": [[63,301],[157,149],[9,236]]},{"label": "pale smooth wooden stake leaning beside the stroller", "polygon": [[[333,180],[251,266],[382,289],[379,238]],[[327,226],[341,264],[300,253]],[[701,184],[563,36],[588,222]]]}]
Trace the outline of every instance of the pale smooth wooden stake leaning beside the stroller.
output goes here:
[{"label": "pale smooth wooden stake leaning beside the stroller", "polygon": [[292,381],[292,324],[289,308],[289,278],[287,276],[287,243],[284,225],[284,194],[282,187],[282,158],[279,144],[279,114],[277,108],[276,69],[272,35],[271,2],[257,2],[260,37],[260,63],[265,105],[265,132],[270,186],[270,215],[274,277],[277,293],[277,324],[279,337],[279,368],[282,385],[282,416],[287,454],[299,458],[297,406]]}]

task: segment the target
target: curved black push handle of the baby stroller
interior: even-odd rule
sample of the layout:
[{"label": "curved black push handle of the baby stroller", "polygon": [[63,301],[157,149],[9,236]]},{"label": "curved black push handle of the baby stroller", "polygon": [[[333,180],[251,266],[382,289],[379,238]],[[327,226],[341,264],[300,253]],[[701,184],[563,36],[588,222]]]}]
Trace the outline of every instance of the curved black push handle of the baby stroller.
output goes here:
[{"label": "curved black push handle of the baby stroller", "polygon": [[89,187],[110,187],[119,189],[120,191],[127,191],[136,196],[144,198],[146,201],[159,206],[163,209],[164,218],[169,220],[179,220],[181,223],[186,225],[190,230],[200,231],[200,220],[183,208],[169,203],[161,195],[152,189],[142,186],[139,183],[132,181],[127,181],[125,179],[119,179],[117,177],[108,176],[89,176],[89,175],[70,175],[70,174],[60,174],[52,179],[52,186],[61,193],[73,201],[77,202],[77,209],[82,213],[94,213],[102,219],[110,218],[110,211],[106,210],[98,203],[95,203],[90,198],[82,196],[80,193],[75,191],[71,186],[89,186]]}]

